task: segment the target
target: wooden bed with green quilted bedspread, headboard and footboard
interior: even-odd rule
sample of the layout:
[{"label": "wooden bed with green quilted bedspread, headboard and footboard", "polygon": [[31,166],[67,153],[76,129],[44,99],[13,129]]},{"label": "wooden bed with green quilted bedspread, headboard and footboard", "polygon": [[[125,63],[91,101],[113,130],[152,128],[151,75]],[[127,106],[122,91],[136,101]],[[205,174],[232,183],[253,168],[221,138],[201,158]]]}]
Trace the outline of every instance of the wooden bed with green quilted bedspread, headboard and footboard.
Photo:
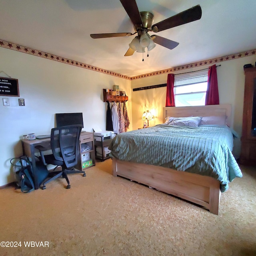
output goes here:
[{"label": "wooden bed with green quilted bedspread, headboard and footboard", "polygon": [[[109,146],[113,175],[219,212],[221,192],[242,172],[232,155],[230,104],[164,107],[163,124],[118,134]],[[180,126],[168,117],[225,117],[226,124]],[[179,120],[179,119],[178,119]],[[176,121],[176,120],[175,120]]]}]

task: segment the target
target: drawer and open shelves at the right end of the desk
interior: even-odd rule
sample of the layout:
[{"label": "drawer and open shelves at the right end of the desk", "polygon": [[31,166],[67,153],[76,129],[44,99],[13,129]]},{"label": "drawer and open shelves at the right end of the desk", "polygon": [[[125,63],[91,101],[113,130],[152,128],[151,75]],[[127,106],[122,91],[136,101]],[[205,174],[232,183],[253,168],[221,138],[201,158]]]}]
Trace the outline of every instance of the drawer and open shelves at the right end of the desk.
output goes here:
[{"label": "drawer and open shelves at the right end of the desk", "polygon": [[81,132],[80,157],[81,157],[81,170],[84,171],[85,169],[95,165],[93,132]]}]

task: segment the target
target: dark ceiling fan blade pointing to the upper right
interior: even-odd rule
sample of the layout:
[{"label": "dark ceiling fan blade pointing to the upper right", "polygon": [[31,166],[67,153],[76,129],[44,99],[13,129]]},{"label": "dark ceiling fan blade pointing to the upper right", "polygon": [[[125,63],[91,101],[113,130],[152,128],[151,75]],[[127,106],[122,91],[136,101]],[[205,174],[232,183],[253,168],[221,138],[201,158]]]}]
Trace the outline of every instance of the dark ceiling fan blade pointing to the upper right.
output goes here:
[{"label": "dark ceiling fan blade pointing to the upper right", "polygon": [[202,16],[202,9],[200,5],[196,5],[188,10],[180,12],[166,20],[162,20],[154,25],[152,25],[152,30],[154,32],[163,31],[169,28],[174,28],[182,24],[186,24],[195,20],[200,20]]}]

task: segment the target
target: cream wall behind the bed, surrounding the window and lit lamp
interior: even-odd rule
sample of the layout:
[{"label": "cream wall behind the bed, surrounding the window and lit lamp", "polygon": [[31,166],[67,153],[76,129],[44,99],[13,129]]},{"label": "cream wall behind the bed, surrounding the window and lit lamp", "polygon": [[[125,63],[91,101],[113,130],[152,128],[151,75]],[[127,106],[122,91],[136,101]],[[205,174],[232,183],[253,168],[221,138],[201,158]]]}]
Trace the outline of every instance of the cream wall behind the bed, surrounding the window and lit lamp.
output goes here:
[{"label": "cream wall behind the bed, surrounding the window and lit lamp", "polygon": [[[220,104],[228,103],[232,105],[231,127],[242,134],[242,115],[244,102],[244,64],[255,64],[256,56],[248,56],[244,58],[224,61],[217,63],[218,89]],[[202,66],[173,72],[180,74],[208,68]],[[132,80],[132,89],[151,86],[156,84],[165,84],[167,82],[167,74],[146,77]],[[143,126],[142,114],[145,110],[150,110],[156,118],[149,121],[150,126],[162,123],[162,108],[165,106],[166,87],[154,88],[148,90],[132,91],[132,121],[133,129]],[[235,141],[234,155],[238,157],[240,154],[240,142]]]}]

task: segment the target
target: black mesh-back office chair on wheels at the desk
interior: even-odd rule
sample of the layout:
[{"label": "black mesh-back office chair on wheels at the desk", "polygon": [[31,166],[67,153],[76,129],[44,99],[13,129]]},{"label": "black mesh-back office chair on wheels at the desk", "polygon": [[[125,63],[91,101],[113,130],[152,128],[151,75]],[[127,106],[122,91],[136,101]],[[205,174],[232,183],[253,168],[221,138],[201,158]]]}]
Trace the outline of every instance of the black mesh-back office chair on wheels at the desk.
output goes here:
[{"label": "black mesh-back office chair on wheels at the desk", "polygon": [[[52,128],[51,130],[51,149],[52,154],[45,155],[44,151],[47,148],[43,146],[36,146],[40,151],[40,158],[42,162],[47,164],[55,165],[53,172],[49,172],[49,179],[42,184],[42,189],[46,188],[46,184],[56,178],[62,176],[68,182],[66,188],[70,188],[70,182],[68,180],[67,174],[70,173],[83,173],[84,171],[75,170],[74,167],[78,163],[78,158],[80,156],[79,151],[79,141],[80,133],[82,130],[82,125],[69,125],[57,128]],[[55,171],[58,166],[62,166],[62,170]]]}]

